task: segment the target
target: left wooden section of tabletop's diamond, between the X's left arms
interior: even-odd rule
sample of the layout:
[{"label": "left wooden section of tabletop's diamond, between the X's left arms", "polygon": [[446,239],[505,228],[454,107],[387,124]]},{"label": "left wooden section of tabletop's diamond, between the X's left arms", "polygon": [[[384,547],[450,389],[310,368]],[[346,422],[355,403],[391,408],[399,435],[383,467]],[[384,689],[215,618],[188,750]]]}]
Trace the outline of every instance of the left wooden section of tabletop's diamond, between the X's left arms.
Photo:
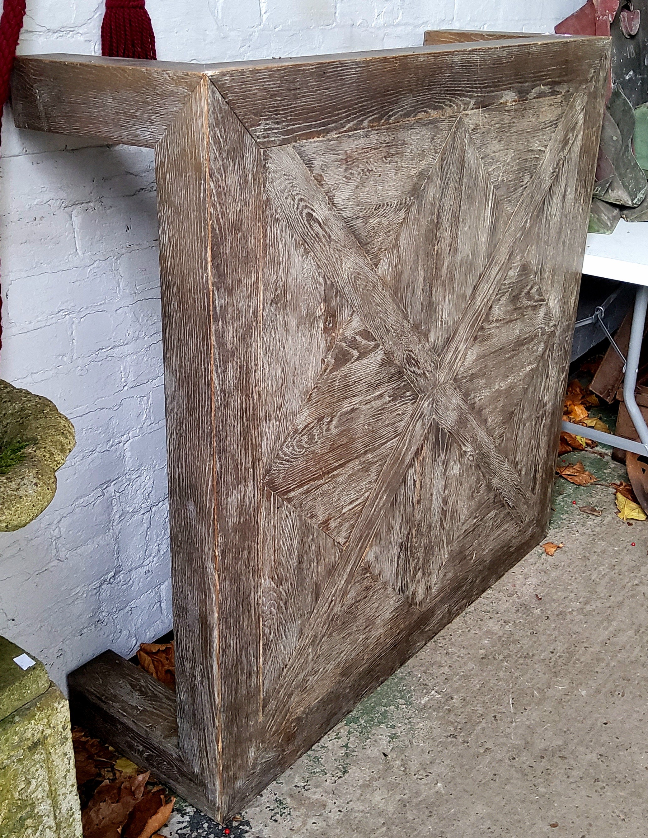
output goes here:
[{"label": "left wooden section of tabletop's diamond, between the X's left arms", "polygon": [[266,484],[344,545],[417,393],[357,317],[346,324]]}]

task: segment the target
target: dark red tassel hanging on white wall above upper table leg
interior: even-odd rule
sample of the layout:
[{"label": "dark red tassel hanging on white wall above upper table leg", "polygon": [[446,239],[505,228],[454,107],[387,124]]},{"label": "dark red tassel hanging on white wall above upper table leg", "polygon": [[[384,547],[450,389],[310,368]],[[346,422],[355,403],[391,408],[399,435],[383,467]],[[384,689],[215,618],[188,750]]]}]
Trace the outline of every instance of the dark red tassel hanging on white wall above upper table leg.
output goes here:
[{"label": "dark red tassel hanging on white wall above upper table leg", "polygon": [[144,0],[106,0],[101,54],[113,58],[157,58],[153,26]]}]

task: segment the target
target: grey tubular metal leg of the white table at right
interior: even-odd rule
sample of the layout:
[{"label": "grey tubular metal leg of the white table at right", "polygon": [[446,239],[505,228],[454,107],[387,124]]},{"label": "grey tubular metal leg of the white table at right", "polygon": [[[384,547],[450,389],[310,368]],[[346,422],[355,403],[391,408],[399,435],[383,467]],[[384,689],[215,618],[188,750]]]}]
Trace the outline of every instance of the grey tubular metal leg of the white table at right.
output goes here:
[{"label": "grey tubular metal leg of the white table at right", "polygon": [[635,311],[632,315],[632,327],[630,328],[630,343],[628,344],[628,360],[625,364],[625,379],[623,385],[623,398],[625,407],[630,414],[630,419],[639,434],[641,442],[633,442],[625,437],[616,437],[613,433],[594,431],[593,428],[575,425],[573,422],[562,422],[562,430],[578,434],[581,437],[594,439],[594,442],[604,442],[614,448],[621,448],[624,451],[631,451],[635,454],[643,454],[648,457],[648,426],[635,400],[635,387],[637,385],[637,373],[639,372],[639,357],[641,344],[644,339],[645,316],[648,309],[648,287],[640,285],[637,288],[635,297]]}]

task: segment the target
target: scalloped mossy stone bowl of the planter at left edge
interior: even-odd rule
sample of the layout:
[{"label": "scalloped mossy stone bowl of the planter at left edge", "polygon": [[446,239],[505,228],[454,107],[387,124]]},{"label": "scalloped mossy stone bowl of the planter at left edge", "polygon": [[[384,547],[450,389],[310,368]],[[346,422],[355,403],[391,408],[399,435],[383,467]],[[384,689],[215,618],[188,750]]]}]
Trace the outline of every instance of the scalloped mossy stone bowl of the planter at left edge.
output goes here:
[{"label": "scalloped mossy stone bowl of the planter at left edge", "polygon": [[0,531],[19,530],[49,505],[75,429],[56,406],[0,380]]}]

